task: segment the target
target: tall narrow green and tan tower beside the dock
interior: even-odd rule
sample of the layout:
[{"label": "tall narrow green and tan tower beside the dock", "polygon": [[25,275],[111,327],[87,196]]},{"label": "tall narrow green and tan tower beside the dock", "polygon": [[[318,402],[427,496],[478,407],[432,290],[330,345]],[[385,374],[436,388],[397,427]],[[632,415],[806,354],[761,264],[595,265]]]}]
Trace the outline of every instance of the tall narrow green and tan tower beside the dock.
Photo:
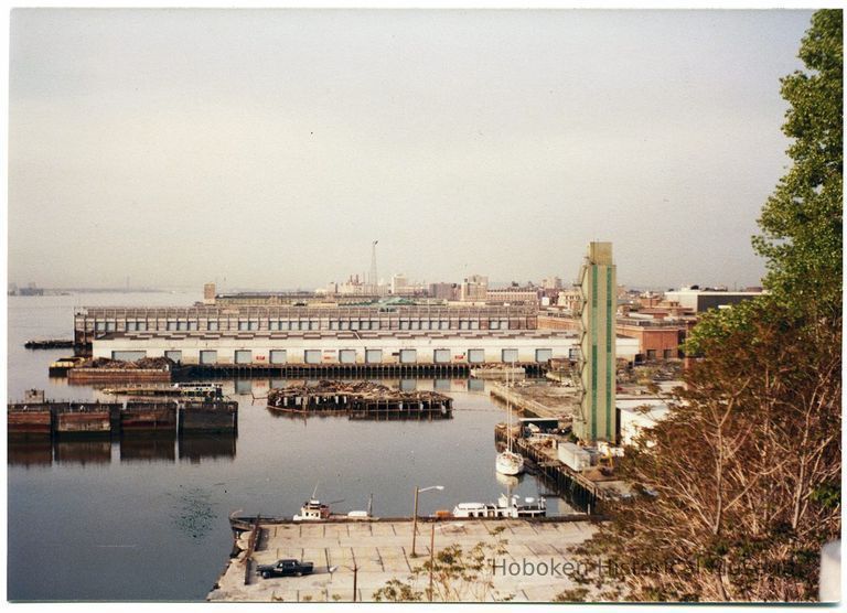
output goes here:
[{"label": "tall narrow green and tan tower beside the dock", "polygon": [[615,442],[617,270],[611,243],[590,243],[579,272],[582,401],[573,433],[586,442]]}]

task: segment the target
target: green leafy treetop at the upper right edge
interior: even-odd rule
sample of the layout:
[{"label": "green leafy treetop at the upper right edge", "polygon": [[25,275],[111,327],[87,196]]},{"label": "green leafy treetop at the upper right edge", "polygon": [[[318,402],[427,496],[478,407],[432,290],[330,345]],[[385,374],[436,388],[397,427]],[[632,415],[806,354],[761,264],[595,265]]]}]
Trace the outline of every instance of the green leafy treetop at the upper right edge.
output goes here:
[{"label": "green leafy treetop at the upper right edge", "polygon": [[841,311],[843,54],[841,11],[815,12],[800,50],[807,72],[782,79],[793,165],[762,208],[762,235],[753,237],[768,260],[766,287],[829,322]]}]

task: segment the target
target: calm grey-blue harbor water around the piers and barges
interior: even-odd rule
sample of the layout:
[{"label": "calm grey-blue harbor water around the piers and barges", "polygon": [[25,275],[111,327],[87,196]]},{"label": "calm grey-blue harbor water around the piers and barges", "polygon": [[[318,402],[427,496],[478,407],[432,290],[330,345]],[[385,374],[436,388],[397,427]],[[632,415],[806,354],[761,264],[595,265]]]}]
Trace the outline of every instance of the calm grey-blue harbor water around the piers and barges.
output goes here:
[{"label": "calm grey-blue harbor water around the piers and barges", "polygon": [[[9,298],[9,400],[29,388],[54,399],[105,399],[90,387],[47,377],[49,363],[68,349],[23,348],[30,338],[71,337],[76,305],[185,305],[200,298]],[[431,422],[280,417],[254,396],[285,381],[224,383],[239,402],[237,438],[9,448],[9,600],[202,601],[228,562],[228,515],[291,516],[315,485],[322,501],[340,501],[332,505],[336,512],[365,509],[373,494],[374,513],[384,517],[411,515],[416,485],[444,486],[420,495],[422,515],[460,502],[493,502],[506,491],[494,472],[493,442],[504,413],[481,381],[404,381],[454,398],[453,419]],[[544,492],[530,475],[513,487],[521,496]],[[550,514],[569,509],[548,501]]]}]

